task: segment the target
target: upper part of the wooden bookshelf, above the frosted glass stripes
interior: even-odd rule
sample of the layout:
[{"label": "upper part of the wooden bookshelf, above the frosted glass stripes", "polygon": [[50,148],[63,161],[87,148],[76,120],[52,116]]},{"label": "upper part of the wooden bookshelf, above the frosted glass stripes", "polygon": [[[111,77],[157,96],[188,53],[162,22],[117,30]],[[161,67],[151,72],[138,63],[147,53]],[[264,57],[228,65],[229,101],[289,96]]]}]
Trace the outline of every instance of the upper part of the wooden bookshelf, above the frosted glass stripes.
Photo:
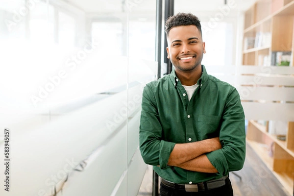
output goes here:
[{"label": "upper part of the wooden bookshelf, above the frosted glass stripes", "polygon": [[273,65],[272,52],[291,52],[294,62],[294,0],[258,0],[245,12],[244,65]]}]

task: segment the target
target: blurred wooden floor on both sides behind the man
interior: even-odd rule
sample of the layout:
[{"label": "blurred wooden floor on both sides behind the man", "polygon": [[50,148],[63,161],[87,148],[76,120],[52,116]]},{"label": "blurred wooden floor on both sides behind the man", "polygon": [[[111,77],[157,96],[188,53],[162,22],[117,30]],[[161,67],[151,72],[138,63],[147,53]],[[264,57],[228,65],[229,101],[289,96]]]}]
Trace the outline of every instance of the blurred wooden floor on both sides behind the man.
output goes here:
[{"label": "blurred wooden floor on both sides behind the man", "polygon": [[[281,183],[248,145],[243,169],[230,172],[230,179],[234,196],[292,196],[287,194]],[[152,196],[151,166],[147,168],[138,196]]]}]

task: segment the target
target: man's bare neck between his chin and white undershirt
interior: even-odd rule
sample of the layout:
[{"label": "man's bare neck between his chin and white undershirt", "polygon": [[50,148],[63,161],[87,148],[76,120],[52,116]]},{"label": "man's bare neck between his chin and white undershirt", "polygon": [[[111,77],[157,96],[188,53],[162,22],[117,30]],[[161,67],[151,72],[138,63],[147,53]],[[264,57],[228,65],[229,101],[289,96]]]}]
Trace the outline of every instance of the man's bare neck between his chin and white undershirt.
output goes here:
[{"label": "man's bare neck between his chin and white undershirt", "polygon": [[176,76],[180,79],[182,85],[192,86],[197,83],[198,79],[202,75],[201,65],[197,66],[192,71],[182,71],[175,69]]}]

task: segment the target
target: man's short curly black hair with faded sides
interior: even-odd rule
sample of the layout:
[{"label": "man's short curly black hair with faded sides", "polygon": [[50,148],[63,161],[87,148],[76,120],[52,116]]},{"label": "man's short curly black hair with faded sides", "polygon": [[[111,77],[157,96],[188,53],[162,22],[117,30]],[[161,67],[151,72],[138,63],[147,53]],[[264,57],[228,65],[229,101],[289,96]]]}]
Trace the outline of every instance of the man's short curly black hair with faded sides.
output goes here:
[{"label": "man's short curly black hair with faded sides", "polygon": [[176,15],[170,16],[165,24],[165,32],[167,36],[169,36],[169,32],[172,27],[186,25],[195,25],[202,36],[200,20],[191,13],[177,13]]}]

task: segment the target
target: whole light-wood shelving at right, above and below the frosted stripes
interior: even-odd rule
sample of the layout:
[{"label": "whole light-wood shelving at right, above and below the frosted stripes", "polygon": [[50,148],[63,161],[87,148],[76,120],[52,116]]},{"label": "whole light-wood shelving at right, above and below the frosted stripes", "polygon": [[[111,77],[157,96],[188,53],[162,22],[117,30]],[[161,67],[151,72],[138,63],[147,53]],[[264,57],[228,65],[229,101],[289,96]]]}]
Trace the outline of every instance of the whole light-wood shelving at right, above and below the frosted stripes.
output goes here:
[{"label": "whole light-wood shelving at right, above and below the frosted stripes", "polygon": [[[275,65],[277,52],[291,52],[294,66],[294,0],[257,0],[245,12],[243,65]],[[286,141],[269,133],[269,123],[249,121],[247,143],[290,195],[294,194],[294,122]]]}]

